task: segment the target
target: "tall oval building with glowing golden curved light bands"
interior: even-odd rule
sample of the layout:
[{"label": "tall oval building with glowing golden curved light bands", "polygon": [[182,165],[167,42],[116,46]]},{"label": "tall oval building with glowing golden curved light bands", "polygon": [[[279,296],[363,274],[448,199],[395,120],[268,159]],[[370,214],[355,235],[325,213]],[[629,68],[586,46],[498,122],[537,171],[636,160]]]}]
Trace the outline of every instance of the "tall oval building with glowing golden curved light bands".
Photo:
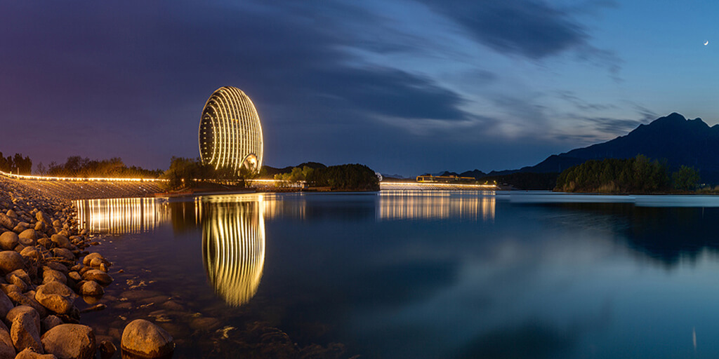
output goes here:
[{"label": "tall oval building with glowing golden curved light bands", "polygon": [[215,169],[262,167],[262,126],[255,105],[239,88],[218,88],[205,103],[199,130],[200,158]]}]

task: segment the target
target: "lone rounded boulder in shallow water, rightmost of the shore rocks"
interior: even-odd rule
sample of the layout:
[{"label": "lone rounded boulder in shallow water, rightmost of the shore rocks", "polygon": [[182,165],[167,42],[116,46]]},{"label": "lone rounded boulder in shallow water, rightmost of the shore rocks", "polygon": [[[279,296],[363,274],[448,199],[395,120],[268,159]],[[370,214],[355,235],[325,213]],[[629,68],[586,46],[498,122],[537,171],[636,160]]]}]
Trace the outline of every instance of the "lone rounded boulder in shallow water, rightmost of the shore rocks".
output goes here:
[{"label": "lone rounded boulder in shallow water, rightmost of the shore rocks", "polygon": [[120,348],[143,358],[163,358],[172,355],[175,342],[172,335],[161,327],[138,319],[125,326]]}]

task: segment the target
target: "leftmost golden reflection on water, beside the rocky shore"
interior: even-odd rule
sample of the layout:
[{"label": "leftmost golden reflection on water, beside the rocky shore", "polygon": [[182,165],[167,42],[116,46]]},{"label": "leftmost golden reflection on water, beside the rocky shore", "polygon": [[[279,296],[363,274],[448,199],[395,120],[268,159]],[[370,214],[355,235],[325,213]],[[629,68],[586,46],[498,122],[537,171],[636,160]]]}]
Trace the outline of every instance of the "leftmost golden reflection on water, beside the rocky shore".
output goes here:
[{"label": "leftmost golden reflection on water, beside the rocky shore", "polygon": [[170,218],[164,200],[116,198],[78,200],[78,222],[91,233],[140,233],[155,229]]}]

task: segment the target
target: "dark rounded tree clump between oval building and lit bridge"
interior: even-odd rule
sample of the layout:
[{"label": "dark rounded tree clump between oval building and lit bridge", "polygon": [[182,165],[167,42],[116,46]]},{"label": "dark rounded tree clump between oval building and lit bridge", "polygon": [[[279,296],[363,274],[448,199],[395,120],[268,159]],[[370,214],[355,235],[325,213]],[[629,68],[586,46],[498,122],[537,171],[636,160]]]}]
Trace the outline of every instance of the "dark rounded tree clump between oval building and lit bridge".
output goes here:
[{"label": "dark rounded tree clump between oval building and lit bridge", "polygon": [[306,180],[312,187],[331,187],[332,190],[380,190],[380,180],[375,171],[364,164],[316,168],[307,174]]}]

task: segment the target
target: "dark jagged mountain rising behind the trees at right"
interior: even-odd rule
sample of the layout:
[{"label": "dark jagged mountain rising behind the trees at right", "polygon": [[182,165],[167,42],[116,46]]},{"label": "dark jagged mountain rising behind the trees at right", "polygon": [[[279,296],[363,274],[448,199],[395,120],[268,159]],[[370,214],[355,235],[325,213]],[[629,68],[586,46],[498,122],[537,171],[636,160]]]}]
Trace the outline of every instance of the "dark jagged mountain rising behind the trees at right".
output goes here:
[{"label": "dark jagged mountain rising behind the trees at right", "polygon": [[[516,172],[562,172],[590,159],[632,158],[644,154],[650,159],[666,160],[669,171],[683,165],[700,172],[702,182],[719,182],[719,125],[708,126],[701,118],[687,120],[679,113],[641,124],[626,136],[601,144],[572,149],[547,157],[532,167]],[[492,174],[492,173],[490,173]]]}]

